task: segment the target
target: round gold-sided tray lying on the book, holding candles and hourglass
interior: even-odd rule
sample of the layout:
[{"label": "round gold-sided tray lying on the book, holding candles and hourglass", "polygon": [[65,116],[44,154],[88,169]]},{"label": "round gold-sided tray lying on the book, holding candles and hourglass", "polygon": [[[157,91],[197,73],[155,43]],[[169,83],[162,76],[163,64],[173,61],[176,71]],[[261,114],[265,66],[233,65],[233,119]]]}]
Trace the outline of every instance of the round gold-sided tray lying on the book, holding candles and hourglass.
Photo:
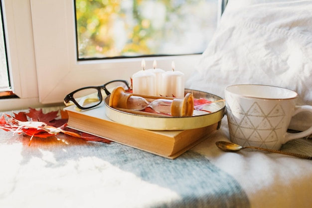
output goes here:
[{"label": "round gold-sided tray lying on the book, holding candles and hourglass", "polygon": [[[197,99],[203,98],[209,101],[223,100],[219,96],[197,90],[185,89],[185,93],[193,93],[194,98]],[[206,105],[203,107],[205,111],[194,110],[193,116],[163,117],[157,115],[139,115],[117,110],[109,106],[109,98],[110,96],[105,98],[106,115],[108,118],[120,124],[148,130],[186,130],[205,127],[221,121],[225,114],[225,101],[213,102]]]}]

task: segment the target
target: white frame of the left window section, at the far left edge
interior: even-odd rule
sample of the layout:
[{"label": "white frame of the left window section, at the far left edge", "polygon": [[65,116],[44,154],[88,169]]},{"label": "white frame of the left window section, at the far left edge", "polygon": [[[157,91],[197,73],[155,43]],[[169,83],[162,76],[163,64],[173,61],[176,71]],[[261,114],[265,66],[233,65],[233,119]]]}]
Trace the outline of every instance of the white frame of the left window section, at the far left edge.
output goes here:
[{"label": "white frame of the left window section, at the far left edge", "polygon": [[19,98],[0,99],[0,111],[40,106],[29,0],[1,0],[11,89]]}]

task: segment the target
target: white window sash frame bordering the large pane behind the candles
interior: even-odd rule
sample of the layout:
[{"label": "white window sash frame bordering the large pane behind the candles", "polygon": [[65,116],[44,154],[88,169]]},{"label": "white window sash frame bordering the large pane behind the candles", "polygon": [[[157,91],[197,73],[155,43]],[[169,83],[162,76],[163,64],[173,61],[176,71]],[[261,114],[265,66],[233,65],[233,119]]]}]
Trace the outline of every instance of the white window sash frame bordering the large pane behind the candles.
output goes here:
[{"label": "white window sash frame bordering the large pane behind the candles", "polygon": [[[40,9],[46,4],[48,10]],[[132,74],[142,69],[142,58],[77,61],[73,0],[31,0],[31,8],[40,102],[60,101],[66,92],[82,86],[101,85],[114,79],[130,81]],[[53,18],[56,13],[57,19]],[[59,31],[63,31],[65,36]],[[45,39],[49,36],[54,41],[47,43]],[[157,57],[157,66],[171,70],[171,62],[174,61],[176,70],[188,77],[199,56]],[[147,68],[152,68],[154,59],[145,58]],[[114,69],[118,71],[112,73]]]}]

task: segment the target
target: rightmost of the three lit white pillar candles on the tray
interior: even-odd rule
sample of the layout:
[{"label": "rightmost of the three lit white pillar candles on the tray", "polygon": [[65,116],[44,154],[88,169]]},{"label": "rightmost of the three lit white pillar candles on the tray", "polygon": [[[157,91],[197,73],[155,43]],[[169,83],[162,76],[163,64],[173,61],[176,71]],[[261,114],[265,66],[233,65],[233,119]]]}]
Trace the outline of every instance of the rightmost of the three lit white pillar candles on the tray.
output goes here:
[{"label": "rightmost of the three lit white pillar candles on the tray", "polygon": [[162,73],[162,90],[161,95],[167,97],[184,97],[184,74],[174,70],[174,62],[172,61],[172,70]]}]

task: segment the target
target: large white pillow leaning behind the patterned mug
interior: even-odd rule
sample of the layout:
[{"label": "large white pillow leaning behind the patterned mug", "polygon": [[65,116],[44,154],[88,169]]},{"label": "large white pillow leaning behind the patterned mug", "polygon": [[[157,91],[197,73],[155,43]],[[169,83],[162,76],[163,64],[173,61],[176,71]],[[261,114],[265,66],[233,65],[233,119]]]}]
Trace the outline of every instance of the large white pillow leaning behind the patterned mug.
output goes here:
[{"label": "large white pillow leaning behind the patterned mug", "polygon": [[[312,1],[229,0],[218,28],[186,88],[224,97],[226,86],[267,84],[312,105]],[[312,126],[296,116],[290,128]]]}]

